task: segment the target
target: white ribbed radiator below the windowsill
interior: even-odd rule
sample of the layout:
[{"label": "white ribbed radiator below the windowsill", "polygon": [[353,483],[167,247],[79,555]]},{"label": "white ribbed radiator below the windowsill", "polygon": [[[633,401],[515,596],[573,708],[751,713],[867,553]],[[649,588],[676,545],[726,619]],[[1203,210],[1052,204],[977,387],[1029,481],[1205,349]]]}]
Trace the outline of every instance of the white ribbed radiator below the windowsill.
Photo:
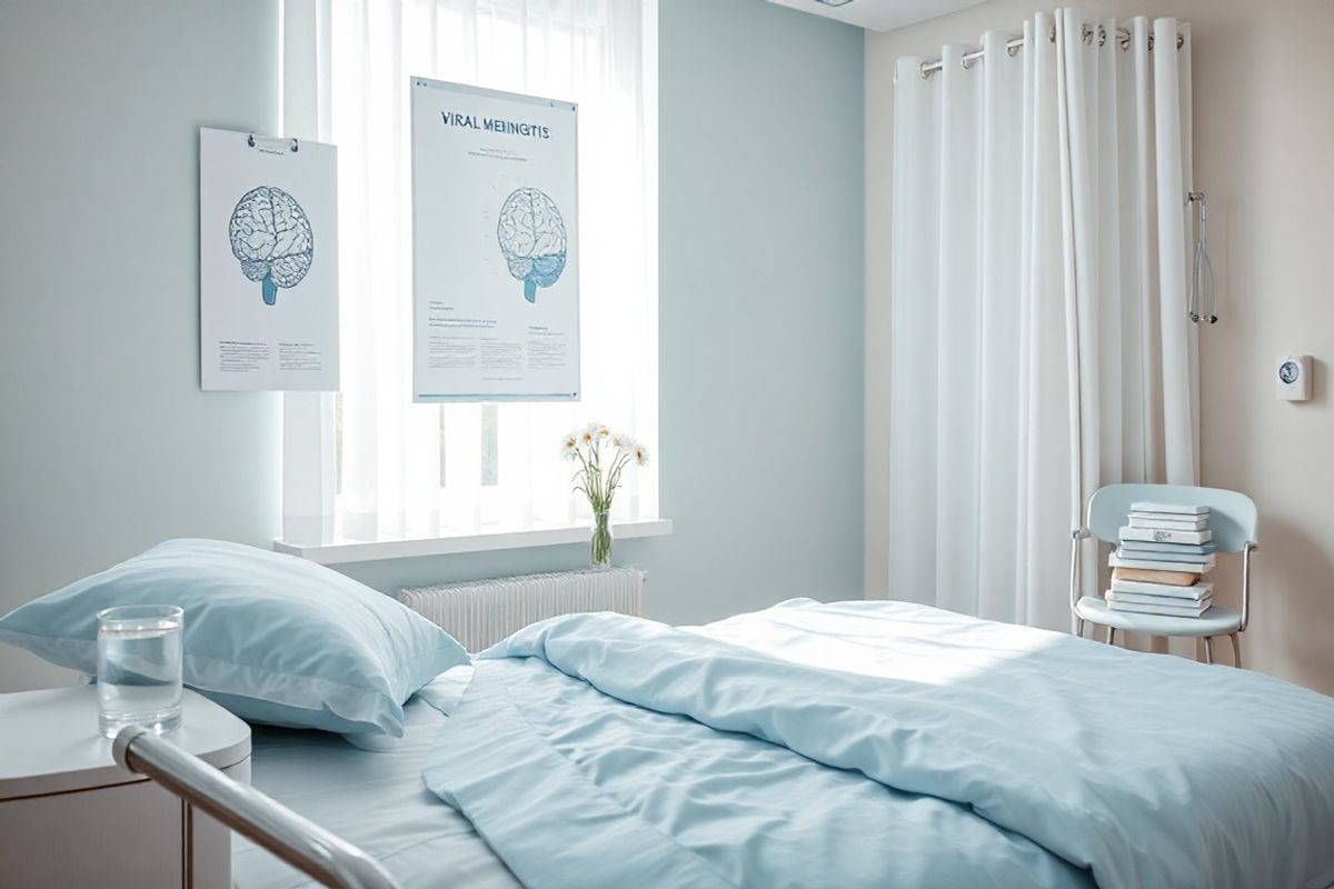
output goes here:
[{"label": "white ribbed radiator below the windowsill", "polygon": [[556,614],[639,614],[644,572],[638,568],[496,577],[400,589],[400,602],[480,652],[515,630]]}]

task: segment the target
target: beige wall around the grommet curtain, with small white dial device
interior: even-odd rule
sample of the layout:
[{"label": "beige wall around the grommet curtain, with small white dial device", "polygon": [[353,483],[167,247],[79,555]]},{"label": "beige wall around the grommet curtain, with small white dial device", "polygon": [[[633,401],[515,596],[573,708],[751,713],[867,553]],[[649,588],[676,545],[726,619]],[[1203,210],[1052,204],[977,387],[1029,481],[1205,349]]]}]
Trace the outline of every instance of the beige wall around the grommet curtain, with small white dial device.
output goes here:
[{"label": "beige wall around the grommet curtain, with small white dial device", "polygon": [[[1013,31],[1037,0],[992,0],[866,39],[866,592],[887,585],[890,187],[894,60]],[[1090,16],[1191,23],[1195,185],[1209,193],[1221,321],[1201,336],[1203,484],[1259,505],[1243,649],[1334,694],[1334,3],[1102,0]],[[1315,357],[1315,397],[1279,401],[1278,355]],[[1230,572],[1233,564],[1225,565]],[[1225,572],[1219,572],[1225,576]],[[1225,590],[1235,597],[1235,585]],[[1058,590],[1054,594],[1063,594]]]}]

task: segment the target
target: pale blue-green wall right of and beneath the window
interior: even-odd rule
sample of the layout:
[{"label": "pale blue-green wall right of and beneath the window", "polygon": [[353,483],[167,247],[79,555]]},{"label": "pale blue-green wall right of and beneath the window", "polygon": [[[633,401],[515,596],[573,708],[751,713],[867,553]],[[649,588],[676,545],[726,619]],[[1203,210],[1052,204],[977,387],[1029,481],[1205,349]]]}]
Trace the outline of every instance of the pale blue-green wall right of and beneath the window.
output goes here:
[{"label": "pale blue-green wall right of and beneath the window", "polygon": [[[622,541],[647,610],[862,597],[862,32],[660,0],[660,481]],[[578,568],[583,546],[347,568],[382,589]]]}]

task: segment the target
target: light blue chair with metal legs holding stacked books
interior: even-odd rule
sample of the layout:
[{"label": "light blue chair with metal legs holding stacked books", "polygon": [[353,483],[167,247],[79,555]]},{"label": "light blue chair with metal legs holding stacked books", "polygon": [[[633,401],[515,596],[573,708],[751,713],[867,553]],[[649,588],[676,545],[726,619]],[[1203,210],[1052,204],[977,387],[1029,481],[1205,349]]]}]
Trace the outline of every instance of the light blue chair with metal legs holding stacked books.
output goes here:
[{"label": "light blue chair with metal legs holding stacked books", "polygon": [[[1221,553],[1242,553],[1242,610],[1214,605],[1199,617],[1137,614],[1117,612],[1101,596],[1079,597],[1081,541],[1097,537],[1109,544],[1119,542],[1119,530],[1127,521],[1130,504],[1149,501],[1209,506],[1209,528]],[[1242,665],[1238,634],[1250,621],[1250,557],[1259,544],[1255,540],[1259,517],[1255,502],[1246,494],[1222,488],[1189,485],[1107,485],[1089,498],[1087,528],[1075,529],[1070,548],[1070,610],[1075,617],[1075,634],[1083,636],[1085,622],[1107,628],[1107,644],[1114,645],[1117,630],[1153,636],[1186,636],[1205,640],[1205,662],[1214,662],[1214,638],[1233,641],[1233,662]],[[1101,550],[1099,550],[1101,552]]]}]

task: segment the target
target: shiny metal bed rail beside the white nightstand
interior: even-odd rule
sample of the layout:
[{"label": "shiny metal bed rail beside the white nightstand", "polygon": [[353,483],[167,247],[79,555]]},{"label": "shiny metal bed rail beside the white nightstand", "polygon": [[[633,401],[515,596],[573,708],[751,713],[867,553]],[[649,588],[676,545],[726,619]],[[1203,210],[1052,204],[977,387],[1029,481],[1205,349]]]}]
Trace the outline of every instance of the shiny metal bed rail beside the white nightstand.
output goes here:
[{"label": "shiny metal bed rail beside the white nightstand", "polygon": [[123,729],[112,756],[325,886],[398,889],[394,877],[351,842],[147,729]]}]

